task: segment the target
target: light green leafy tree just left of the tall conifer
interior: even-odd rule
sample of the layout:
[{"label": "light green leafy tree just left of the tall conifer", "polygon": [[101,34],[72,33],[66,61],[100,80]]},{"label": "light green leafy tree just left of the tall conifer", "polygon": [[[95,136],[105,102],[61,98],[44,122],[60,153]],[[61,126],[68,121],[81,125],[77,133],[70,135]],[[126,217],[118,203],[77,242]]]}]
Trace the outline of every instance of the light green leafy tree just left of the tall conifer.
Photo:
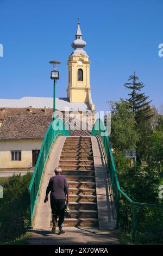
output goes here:
[{"label": "light green leafy tree just left of the tall conifer", "polygon": [[126,102],[111,102],[111,135],[112,147],[117,150],[133,149],[138,141],[134,114]]}]

